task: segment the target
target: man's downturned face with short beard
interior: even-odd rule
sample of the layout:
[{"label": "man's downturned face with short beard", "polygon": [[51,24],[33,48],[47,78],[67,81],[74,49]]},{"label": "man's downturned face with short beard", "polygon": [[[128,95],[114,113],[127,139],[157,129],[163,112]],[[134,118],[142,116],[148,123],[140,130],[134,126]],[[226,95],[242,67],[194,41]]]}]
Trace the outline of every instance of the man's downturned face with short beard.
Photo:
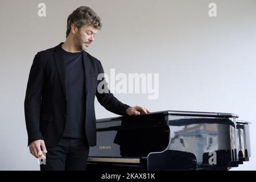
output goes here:
[{"label": "man's downturned face with short beard", "polygon": [[94,37],[97,34],[97,28],[90,25],[85,25],[79,28],[74,36],[74,43],[79,51],[85,51],[90,44],[94,42]]}]

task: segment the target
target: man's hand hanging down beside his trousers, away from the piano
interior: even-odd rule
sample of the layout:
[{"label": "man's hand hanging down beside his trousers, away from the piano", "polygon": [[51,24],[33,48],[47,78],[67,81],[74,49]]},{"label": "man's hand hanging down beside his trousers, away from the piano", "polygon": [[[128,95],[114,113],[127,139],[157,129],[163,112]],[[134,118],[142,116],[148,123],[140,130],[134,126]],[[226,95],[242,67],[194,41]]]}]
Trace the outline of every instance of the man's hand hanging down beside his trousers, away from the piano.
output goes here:
[{"label": "man's hand hanging down beside his trousers, away from the piano", "polygon": [[37,159],[46,159],[46,156],[43,155],[43,152],[47,153],[46,145],[44,144],[44,140],[35,140],[30,143],[30,154],[34,155]]}]

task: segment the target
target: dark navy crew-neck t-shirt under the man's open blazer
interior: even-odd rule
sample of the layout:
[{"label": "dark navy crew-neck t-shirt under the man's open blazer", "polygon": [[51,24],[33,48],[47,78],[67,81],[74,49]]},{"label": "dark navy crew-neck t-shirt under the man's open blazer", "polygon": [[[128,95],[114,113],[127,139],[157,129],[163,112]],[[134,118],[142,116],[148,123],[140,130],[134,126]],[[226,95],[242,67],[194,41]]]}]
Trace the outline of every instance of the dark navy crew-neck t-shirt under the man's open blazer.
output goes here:
[{"label": "dark navy crew-neck t-shirt under the man's open blazer", "polygon": [[[62,49],[63,50],[63,49]],[[63,137],[85,138],[85,74],[82,52],[63,52],[67,84],[67,118]]]}]

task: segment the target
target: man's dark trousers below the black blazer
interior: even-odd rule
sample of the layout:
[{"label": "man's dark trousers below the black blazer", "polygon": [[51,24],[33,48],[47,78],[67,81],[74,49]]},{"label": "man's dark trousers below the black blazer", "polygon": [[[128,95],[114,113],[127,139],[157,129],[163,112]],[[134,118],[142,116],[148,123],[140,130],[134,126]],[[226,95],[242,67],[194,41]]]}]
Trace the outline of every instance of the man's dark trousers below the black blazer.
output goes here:
[{"label": "man's dark trousers below the black blazer", "polygon": [[86,139],[61,138],[56,146],[46,146],[46,164],[40,164],[41,171],[85,171],[89,154]]}]

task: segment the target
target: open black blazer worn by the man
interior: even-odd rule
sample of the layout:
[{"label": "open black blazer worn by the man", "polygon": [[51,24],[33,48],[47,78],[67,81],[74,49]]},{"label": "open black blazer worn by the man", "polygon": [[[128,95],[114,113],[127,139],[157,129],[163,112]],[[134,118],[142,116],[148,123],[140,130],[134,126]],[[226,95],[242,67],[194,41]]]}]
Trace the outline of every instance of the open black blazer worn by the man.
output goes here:
[{"label": "open black blazer worn by the man", "polygon": [[[28,144],[43,139],[46,146],[53,146],[59,142],[64,133],[68,98],[61,44],[63,43],[38,52],[31,66],[24,101]],[[104,70],[99,60],[87,54],[89,61],[83,59],[86,96],[85,133],[89,145],[95,146],[95,96],[102,106],[115,114],[126,115],[125,111],[130,106],[118,101],[110,91],[98,92],[97,85],[105,81],[105,78],[97,80],[97,76],[104,73]],[[83,57],[85,56],[87,55],[83,52]]]}]

